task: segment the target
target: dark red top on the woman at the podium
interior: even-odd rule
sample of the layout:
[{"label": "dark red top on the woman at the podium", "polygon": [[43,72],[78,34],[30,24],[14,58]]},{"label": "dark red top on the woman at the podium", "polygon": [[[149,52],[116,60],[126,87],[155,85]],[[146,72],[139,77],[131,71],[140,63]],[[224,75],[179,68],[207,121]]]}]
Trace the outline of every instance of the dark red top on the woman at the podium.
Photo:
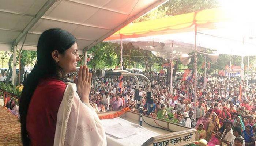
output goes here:
[{"label": "dark red top on the woman at the podium", "polygon": [[39,82],[31,98],[26,126],[32,146],[52,146],[57,114],[66,84],[47,78]]}]

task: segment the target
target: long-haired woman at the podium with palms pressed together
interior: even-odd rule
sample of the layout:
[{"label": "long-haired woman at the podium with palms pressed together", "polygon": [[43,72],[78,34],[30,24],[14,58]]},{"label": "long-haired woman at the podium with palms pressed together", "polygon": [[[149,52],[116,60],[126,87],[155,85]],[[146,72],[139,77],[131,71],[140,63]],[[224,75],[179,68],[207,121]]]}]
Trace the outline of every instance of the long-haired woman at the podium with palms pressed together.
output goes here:
[{"label": "long-haired woman at the podium with palms pressed together", "polygon": [[105,146],[106,135],[89,104],[91,73],[80,66],[76,84],[64,80],[80,61],[75,37],[61,29],[43,32],[37,64],[20,97],[25,146]]}]

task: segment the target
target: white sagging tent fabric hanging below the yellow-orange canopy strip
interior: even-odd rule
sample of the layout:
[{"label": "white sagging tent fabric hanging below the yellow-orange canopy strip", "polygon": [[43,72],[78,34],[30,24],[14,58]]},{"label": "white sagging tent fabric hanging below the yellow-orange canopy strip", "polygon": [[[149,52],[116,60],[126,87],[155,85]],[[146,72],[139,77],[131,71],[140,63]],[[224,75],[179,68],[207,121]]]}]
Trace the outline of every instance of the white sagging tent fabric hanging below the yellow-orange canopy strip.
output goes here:
[{"label": "white sagging tent fabric hanging below the yellow-orange canopy strip", "polygon": [[[248,23],[227,26],[197,32],[197,50],[211,49],[218,54],[256,56],[256,25]],[[109,42],[120,43],[120,40]],[[173,59],[177,59],[181,54],[188,54],[194,50],[195,32],[123,39],[123,43],[128,42],[140,49],[152,51],[157,57],[166,59],[171,58],[173,43]]]}]

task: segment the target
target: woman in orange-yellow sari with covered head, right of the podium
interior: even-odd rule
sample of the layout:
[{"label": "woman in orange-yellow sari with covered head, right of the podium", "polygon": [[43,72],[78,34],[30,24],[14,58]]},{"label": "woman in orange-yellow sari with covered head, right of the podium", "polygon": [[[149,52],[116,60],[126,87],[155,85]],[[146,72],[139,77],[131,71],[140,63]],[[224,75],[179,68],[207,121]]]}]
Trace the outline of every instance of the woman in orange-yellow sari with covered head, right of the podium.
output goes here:
[{"label": "woman in orange-yellow sari with covered head, right of the podium", "polygon": [[221,125],[219,124],[219,119],[216,113],[212,114],[212,120],[209,121],[209,126],[207,129],[207,140],[208,146],[220,145],[221,141],[215,137],[214,132],[217,133]]}]

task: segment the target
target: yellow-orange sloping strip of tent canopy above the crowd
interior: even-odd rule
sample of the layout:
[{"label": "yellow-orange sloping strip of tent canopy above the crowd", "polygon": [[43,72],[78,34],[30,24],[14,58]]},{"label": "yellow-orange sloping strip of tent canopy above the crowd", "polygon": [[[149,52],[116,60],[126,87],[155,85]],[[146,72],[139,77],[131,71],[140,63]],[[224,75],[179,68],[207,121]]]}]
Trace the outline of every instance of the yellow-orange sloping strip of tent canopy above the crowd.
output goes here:
[{"label": "yellow-orange sloping strip of tent canopy above the crowd", "polygon": [[117,31],[105,40],[122,38],[146,37],[152,35],[163,35],[197,30],[214,29],[217,22],[230,20],[228,15],[222,15],[223,9],[214,8],[203,11],[170,16],[167,18],[148,20],[139,23],[131,23]]}]

